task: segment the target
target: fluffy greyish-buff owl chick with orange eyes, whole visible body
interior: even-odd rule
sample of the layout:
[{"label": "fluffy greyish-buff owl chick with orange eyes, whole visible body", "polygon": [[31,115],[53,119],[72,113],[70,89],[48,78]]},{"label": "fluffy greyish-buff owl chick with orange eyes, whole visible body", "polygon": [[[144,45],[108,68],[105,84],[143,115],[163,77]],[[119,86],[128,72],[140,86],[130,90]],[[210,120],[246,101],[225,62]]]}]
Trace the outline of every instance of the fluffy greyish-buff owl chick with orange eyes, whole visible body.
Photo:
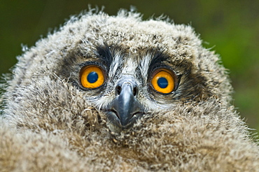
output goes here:
[{"label": "fluffy greyish-buff owl chick with orange eyes, whole visible body", "polygon": [[192,27],[90,10],[24,51],[1,86],[1,171],[259,171]]}]

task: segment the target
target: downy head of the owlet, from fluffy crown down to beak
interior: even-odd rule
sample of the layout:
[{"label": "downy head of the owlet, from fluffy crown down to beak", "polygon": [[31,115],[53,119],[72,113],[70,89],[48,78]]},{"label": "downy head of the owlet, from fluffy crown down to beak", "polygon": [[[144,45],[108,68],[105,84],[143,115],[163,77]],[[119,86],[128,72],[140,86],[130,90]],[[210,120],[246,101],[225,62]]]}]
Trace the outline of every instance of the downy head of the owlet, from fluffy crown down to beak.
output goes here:
[{"label": "downy head of the owlet, from fluffy crown down to beak", "polygon": [[[24,107],[47,102],[52,111],[92,106],[116,132],[179,103],[213,98],[228,104],[232,91],[218,56],[202,47],[192,27],[142,21],[125,10],[71,17],[18,59],[6,99]],[[36,92],[44,96],[27,101]]]}]

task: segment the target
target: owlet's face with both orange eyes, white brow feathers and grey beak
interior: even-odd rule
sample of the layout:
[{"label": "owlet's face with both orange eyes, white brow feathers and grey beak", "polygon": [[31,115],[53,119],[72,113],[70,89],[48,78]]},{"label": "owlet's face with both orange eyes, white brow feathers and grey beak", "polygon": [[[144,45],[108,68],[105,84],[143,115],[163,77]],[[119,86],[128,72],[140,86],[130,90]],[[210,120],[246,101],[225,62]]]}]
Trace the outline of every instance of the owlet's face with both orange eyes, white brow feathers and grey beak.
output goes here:
[{"label": "owlet's face with both orange eyes, white brow feathers and grey beak", "polygon": [[113,45],[96,50],[94,57],[78,66],[78,79],[73,82],[113,128],[128,129],[148,111],[174,106],[181,75],[162,52],[148,50],[134,57]]}]

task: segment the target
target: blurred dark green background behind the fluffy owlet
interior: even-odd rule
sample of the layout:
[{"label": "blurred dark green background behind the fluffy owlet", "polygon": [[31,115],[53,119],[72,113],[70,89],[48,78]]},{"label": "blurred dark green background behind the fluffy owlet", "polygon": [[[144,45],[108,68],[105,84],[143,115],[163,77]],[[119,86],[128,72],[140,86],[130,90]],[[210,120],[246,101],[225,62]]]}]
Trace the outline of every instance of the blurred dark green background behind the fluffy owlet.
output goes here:
[{"label": "blurred dark green background behind the fluffy owlet", "polygon": [[[116,15],[118,9],[135,6],[144,19],[169,16],[177,24],[190,24],[230,69],[234,101],[249,127],[259,131],[259,1],[258,0],[0,0],[0,73],[16,62],[22,46],[34,43],[57,29],[69,16],[92,7]],[[65,20],[66,19],[66,20]],[[253,131],[255,132],[255,131]],[[258,135],[259,136],[259,135]]]}]

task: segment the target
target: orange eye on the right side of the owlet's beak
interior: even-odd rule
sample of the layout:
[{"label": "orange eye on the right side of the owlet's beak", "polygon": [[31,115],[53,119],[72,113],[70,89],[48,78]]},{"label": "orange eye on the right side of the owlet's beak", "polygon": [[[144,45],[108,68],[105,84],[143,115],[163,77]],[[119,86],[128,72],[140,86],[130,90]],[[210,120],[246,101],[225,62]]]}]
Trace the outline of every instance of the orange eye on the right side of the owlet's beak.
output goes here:
[{"label": "orange eye on the right side of the owlet's beak", "polygon": [[174,90],[174,74],[167,69],[158,69],[154,72],[151,83],[155,91],[170,93]]}]

